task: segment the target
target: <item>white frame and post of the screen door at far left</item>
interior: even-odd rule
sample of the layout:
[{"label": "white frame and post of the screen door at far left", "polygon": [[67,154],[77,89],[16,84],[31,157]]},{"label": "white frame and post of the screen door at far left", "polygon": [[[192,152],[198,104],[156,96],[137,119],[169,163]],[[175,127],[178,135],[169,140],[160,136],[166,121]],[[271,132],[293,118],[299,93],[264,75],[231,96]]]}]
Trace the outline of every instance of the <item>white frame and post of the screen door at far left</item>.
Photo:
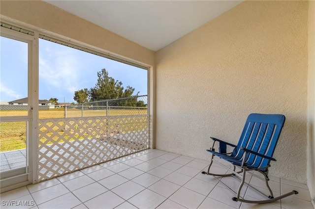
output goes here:
[{"label": "white frame and post of the screen door at far left", "polygon": [[1,192],[36,181],[38,118],[38,33],[34,35],[1,27],[0,35],[28,44],[28,115],[0,117],[1,122],[27,121],[26,173],[1,180]]}]

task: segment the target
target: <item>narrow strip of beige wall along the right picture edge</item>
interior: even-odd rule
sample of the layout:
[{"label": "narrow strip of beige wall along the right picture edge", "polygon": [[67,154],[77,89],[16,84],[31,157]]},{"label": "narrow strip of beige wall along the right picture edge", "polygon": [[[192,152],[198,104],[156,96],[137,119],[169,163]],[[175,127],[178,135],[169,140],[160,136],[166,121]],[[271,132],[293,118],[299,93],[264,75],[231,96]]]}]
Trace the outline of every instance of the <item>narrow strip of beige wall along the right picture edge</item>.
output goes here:
[{"label": "narrow strip of beige wall along the right picture edge", "polygon": [[315,207],[315,1],[309,2],[308,155],[307,184]]}]

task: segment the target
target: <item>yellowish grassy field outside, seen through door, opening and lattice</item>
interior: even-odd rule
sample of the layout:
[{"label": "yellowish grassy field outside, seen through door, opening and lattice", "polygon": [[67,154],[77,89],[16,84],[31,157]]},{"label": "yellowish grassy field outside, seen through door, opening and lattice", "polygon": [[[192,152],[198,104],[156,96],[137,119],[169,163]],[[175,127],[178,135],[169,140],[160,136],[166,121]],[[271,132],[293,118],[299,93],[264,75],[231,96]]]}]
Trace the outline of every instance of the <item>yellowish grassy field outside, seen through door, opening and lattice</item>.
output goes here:
[{"label": "yellowish grassy field outside, seen through door, opening and lattice", "polygon": [[[107,112],[109,116],[118,115],[142,115],[147,114],[147,110],[130,110],[130,109],[111,109]],[[27,115],[27,111],[0,111],[0,116],[22,116]],[[82,111],[77,109],[69,109],[66,112],[67,118],[80,118],[82,116]],[[83,117],[101,117],[106,116],[106,110],[84,110]],[[52,109],[52,110],[40,110],[39,119],[49,119],[49,118],[64,118],[63,108]],[[137,124],[130,124],[129,122],[117,122],[111,124],[113,126],[118,126],[117,131],[136,131],[134,127],[140,127],[140,129],[146,129],[146,122],[138,122]],[[27,122],[0,122],[0,152],[12,151],[18,149],[26,148],[26,126]],[[106,125],[104,125],[106,126]],[[103,127],[106,130],[106,127]],[[74,131],[74,130],[73,130]],[[137,130],[139,131],[139,130]],[[63,136],[64,140],[74,140],[74,138],[64,135],[62,131],[58,132],[59,135]],[[48,133],[49,134],[52,133]],[[89,133],[82,132],[82,135],[75,134],[75,138],[88,137]],[[56,139],[58,140],[58,137]],[[61,141],[62,142],[62,141]]]}]

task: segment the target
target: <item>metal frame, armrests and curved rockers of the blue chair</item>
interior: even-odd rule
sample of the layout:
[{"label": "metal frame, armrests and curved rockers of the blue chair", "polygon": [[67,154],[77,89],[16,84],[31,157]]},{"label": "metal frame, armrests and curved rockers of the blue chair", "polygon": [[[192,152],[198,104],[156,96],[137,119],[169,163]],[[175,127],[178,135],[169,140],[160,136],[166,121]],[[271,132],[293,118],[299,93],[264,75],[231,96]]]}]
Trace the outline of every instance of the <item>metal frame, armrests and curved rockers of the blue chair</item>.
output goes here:
[{"label": "metal frame, armrests and curved rockers of the blue chair", "polygon": [[[212,145],[212,148],[211,148],[212,151],[214,151],[214,145],[215,145],[215,142],[216,142],[216,141],[218,141],[218,142],[220,142],[220,143],[223,143],[223,144],[225,144],[225,145],[229,145],[229,146],[231,146],[231,147],[236,147],[236,145],[233,145],[233,144],[224,142],[224,141],[222,141],[222,140],[220,140],[220,139],[213,138],[213,137],[211,137],[211,138],[214,140],[213,145]],[[220,148],[219,148],[219,149],[220,149]],[[233,165],[233,169],[230,169],[229,167],[227,167],[227,166],[225,166],[224,164],[222,164],[220,161],[214,159],[214,156],[215,156],[215,155],[212,154],[211,162],[210,162],[210,165],[209,165],[209,167],[208,167],[208,171],[207,171],[207,172],[202,171],[202,174],[207,174],[207,175],[214,176],[214,177],[215,177],[219,182],[221,182],[221,183],[223,183],[223,182],[222,182],[219,178],[217,178],[217,177],[227,177],[227,176],[231,176],[231,177],[234,177],[235,179],[239,180],[239,181],[241,182],[241,184],[239,185],[239,188],[238,188],[238,191],[237,191],[237,192],[235,192],[235,191],[234,191],[233,189],[231,189],[228,185],[226,185],[225,183],[223,183],[229,190],[231,190],[233,193],[236,194],[236,197],[233,197],[233,198],[232,198],[233,201],[239,201],[239,202],[244,202],[244,203],[253,203],[253,204],[263,204],[263,203],[271,203],[271,202],[280,200],[280,199],[282,199],[282,198],[284,198],[284,197],[287,197],[287,196],[290,196],[290,195],[292,195],[292,194],[298,194],[298,192],[297,192],[296,190],[293,190],[293,191],[288,192],[288,193],[286,193],[286,194],[283,194],[283,195],[281,195],[281,196],[279,196],[279,197],[274,197],[274,196],[273,196],[273,192],[272,192],[272,190],[271,190],[271,188],[270,188],[270,186],[269,186],[269,184],[268,184],[268,181],[269,181],[269,178],[268,178],[268,168],[270,167],[270,161],[269,161],[269,163],[268,163],[268,165],[267,165],[266,167],[251,168],[251,169],[247,168],[247,165],[246,165],[245,162],[246,162],[246,156],[247,156],[248,153],[251,153],[251,154],[253,154],[253,155],[257,155],[257,156],[260,156],[260,157],[263,157],[263,158],[267,158],[267,159],[273,160],[273,161],[276,161],[276,159],[273,158],[273,157],[268,157],[268,156],[261,155],[261,154],[259,154],[259,153],[253,152],[252,150],[248,150],[248,149],[243,148],[243,147],[241,147],[240,149],[243,149],[243,150],[244,150],[244,155],[243,155],[243,160],[242,160],[241,166]],[[224,149],[224,150],[225,150],[225,149]],[[229,154],[231,154],[231,153],[220,153],[220,154],[229,155]],[[211,167],[213,161],[218,162],[219,164],[221,164],[221,166],[223,166],[224,168],[226,168],[227,170],[229,170],[231,173],[229,173],[229,174],[213,174],[213,173],[210,173],[210,167]],[[236,171],[235,171],[236,167],[239,167],[239,168],[241,169],[241,171],[236,172]],[[266,171],[262,171],[262,170],[265,170],[265,169],[266,169]],[[266,195],[266,194],[264,194],[263,192],[259,191],[257,188],[253,187],[253,186],[250,185],[249,183],[246,183],[246,182],[245,182],[245,177],[246,177],[246,172],[247,172],[247,171],[257,171],[257,172],[261,173],[261,174],[264,176],[264,179],[263,179],[263,178],[261,178],[260,176],[256,175],[255,173],[252,173],[252,175],[254,175],[254,176],[258,177],[259,179],[262,179],[262,180],[265,181],[266,186],[267,186],[267,188],[268,188],[268,190],[269,190],[269,192],[270,192],[270,195],[269,195],[269,196]],[[242,173],[242,175],[241,175],[241,173]],[[257,191],[258,193],[260,193],[260,194],[262,194],[263,196],[267,197],[268,199],[267,199],[267,200],[254,201],[254,200],[246,200],[246,199],[242,198],[242,197],[240,196],[240,193],[241,193],[241,189],[242,189],[244,183],[247,184],[248,186],[250,186],[250,187],[251,187],[252,189],[254,189],[255,191]]]}]

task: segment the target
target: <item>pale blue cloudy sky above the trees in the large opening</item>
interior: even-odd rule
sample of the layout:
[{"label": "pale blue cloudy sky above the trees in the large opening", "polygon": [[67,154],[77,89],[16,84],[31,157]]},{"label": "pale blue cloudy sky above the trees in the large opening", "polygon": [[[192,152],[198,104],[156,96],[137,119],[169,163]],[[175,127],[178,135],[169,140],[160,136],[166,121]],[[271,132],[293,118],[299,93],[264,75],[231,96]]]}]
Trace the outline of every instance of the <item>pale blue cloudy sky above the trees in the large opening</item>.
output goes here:
[{"label": "pale blue cloudy sky above the trees in the large opening", "polygon": [[[96,72],[106,68],[109,76],[130,85],[135,92],[147,93],[147,72],[143,69],[68,48],[45,40],[39,42],[39,93],[46,97],[72,101],[74,92],[90,88],[97,81]],[[141,84],[140,84],[141,83]]]}]

